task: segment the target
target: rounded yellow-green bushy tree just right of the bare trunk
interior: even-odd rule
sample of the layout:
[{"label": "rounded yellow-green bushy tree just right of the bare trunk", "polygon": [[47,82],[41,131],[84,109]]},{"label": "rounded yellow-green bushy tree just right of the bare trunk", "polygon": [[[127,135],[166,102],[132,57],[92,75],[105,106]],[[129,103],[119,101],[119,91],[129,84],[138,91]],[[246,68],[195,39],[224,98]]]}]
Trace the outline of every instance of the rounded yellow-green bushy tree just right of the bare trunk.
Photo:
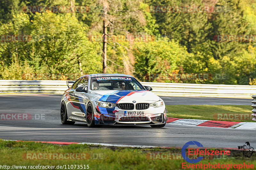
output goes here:
[{"label": "rounded yellow-green bushy tree just right of the bare trunk", "polygon": [[136,42],[133,53],[136,58],[135,76],[142,81],[177,82],[179,79],[172,78],[172,73],[178,73],[182,69],[181,63],[193,56],[186,47],[168,38]]}]

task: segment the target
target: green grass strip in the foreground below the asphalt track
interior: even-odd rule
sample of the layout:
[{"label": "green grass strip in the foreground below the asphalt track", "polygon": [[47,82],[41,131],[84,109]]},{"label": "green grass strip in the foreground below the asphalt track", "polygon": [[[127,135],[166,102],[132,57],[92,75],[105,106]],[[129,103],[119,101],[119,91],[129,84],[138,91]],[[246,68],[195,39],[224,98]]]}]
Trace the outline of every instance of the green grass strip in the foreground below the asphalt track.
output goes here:
[{"label": "green grass strip in the foreground below the asphalt track", "polygon": [[[55,145],[42,144],[34,142],[15,142],[0,140],[0,165],[11,166],[56,166],[58,165],[89,165],[89,169],[181,169],[182,162],[186,162],[182,158],[180,160],[159,160],[148,159],[149,153],[181,153],[180,149],[167,148],[124,148],[124,147],[104,147],[92,145]],[[103,154],[103,159],[71,159],[71,160],[56,160],[56,159],[24,159],[22,155],[26,153],[89,153]],[[25,157],[26,158],[26,157]],[[201,160],[202,164],[256,164],[255,155],[251,158],[243,157],[241,151],[231,151],[231,155],[226,159],[210,159]],[[189,164],[189,163],[188,163]],[[20,168],[22,169],[22,168]],[[65,168],[64,168],[65,169]],[[73,168],[78,169],[78,168]]]}]

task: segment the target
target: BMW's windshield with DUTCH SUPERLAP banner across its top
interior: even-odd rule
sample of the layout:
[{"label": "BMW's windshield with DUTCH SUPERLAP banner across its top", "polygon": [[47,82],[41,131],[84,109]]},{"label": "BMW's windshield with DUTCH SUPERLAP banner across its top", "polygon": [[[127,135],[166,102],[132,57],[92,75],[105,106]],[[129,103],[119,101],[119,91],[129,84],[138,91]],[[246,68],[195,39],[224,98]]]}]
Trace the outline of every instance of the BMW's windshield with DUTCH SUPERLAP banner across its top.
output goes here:
[{"label": "BMW's windshield with DUTCH SUPERLAP banner across its top", "polygon": [[91,90],[143,90],[139,82],[132,77],[94,77]]}]

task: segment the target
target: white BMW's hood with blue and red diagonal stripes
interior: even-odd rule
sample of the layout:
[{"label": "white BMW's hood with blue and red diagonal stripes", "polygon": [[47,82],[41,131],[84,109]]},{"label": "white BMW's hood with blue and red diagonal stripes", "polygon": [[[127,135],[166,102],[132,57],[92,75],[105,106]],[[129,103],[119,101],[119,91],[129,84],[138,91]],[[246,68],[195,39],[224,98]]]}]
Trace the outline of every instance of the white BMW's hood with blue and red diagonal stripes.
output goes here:
[{"label": "white BMW's hood with blue and red diagonal stripes", "polygon": [[112,102],[112,103],[123,103],[132,102],[135,100],[137,103],[158,101],[158,97],[153,92],[147,90],[102,90],[90,92],[91,95],[100,98],[102,101]]}]

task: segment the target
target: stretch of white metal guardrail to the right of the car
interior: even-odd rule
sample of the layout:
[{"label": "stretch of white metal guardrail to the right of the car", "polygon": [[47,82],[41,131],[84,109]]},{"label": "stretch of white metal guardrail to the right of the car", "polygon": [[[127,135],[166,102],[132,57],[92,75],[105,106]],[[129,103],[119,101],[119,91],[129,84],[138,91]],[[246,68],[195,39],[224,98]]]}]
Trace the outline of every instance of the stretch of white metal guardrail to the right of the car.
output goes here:
[{"label": "stretch of white metal guardrail to the right of the car", "polygon": [[153,88],[159,96],[199,96],[251,98],[256,93],[256,85],[212,85],[187,83],[142,82]]}]

